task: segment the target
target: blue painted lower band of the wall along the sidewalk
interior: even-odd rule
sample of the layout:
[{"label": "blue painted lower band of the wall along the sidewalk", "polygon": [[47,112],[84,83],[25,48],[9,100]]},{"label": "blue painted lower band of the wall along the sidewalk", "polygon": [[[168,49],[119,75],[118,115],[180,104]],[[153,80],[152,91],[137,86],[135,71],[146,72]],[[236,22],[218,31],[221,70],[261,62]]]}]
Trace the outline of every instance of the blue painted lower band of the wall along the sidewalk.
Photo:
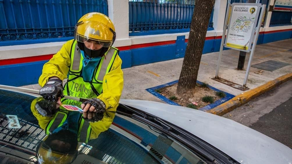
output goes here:
[{"label": "blue painted lower band of the wall along the sidewalk", "polygon": [[[260,34],[257,44],[290,38],[292,38],[292,31]],[[206,40],[203,54],[218,52],[220,43],[221,39]],[[175,44],[120,51],[119,55],[123,61],[122,68],[182,58],[185,55],[186,46],[185,36],[178,36]],[[227,48],[223,50],[227,50]],[[43,65],[46,62],[47,61],[37,61],[0,66],[0,76],[5,77],[1,78],[0,84],[12,86],[36,84],[41,75]]]}]

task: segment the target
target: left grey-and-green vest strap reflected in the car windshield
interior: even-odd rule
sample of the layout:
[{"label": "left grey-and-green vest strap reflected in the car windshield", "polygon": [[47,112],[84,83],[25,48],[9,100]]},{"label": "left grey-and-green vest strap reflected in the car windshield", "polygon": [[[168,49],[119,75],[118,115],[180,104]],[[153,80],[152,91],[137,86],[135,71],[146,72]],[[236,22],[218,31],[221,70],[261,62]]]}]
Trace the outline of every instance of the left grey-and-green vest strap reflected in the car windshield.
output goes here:
[{"label": "left grey-and-green vest strap reflected in the car windshield", "polygon": [[65,122],[66,118],[67,113],[58,111],[55,114],[54,118],[49,122],[46,128],[46,134],[47,135],[52,134],[56,128],[58,128]]}]

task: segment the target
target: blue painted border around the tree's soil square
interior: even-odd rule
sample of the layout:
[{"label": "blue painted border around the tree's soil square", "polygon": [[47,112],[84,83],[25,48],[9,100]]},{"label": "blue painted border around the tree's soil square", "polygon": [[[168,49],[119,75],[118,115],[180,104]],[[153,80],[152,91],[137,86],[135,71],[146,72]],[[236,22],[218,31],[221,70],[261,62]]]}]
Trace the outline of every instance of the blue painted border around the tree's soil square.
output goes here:
[{"label": "blue painted border around the tree's soil square", "polygon": [[[162,84],[162,85],[159,85],[159,86],[156,86],[156,87],[148,88],[148,89],[146,89],[146,91],[150,92],[154,96],[158,97],[160,100],[162,100],[162,101],[164,101],[164,102],[166,102],[166,103],[168,103],[170,105],[178,105],[178,106],[180,106],[178,103],[175,103],[174,101],[166,98],[165,96],[162,96],[161,94],[159,94],[158,92],[155,91],[156,89],[160,89],[160,88],[164,88],[164,87],[167,87],[167,86],[171,86],[171,85],[173,85],[175,83],[178,83],[178,80],[175,80],[175,81],[172,81],[172,82],[169,82],[169,83],[166,83],[166,84]],[[202,85],[203,83],[197,80],[197,84]],[[221,91],[221,90],[219,90],[217,88],[214,88],[214,87],[212,87],[210,85],[208,85],[208,88],[213,90],[213,91]],[[221,91],[221,92],[224,92],[224,91]],[[218,105],[220,105],[222,103],[225,103],[226,101],[228,101],[228,100],[230,100],[231,98],[234,97],[234,95],[232,95],[232,94],[229,94],[227,92],[224,92],[224,93],[226,94],[226,96],[224,98],[220,98],[219,100],[215,101],[214,103],[206,105],[204,107],[201,107],[198,110],[202,110],[202,111],[206,112],[206,111],[212,109],[213,107],[216,107],[216,106],[218,106]]]}]

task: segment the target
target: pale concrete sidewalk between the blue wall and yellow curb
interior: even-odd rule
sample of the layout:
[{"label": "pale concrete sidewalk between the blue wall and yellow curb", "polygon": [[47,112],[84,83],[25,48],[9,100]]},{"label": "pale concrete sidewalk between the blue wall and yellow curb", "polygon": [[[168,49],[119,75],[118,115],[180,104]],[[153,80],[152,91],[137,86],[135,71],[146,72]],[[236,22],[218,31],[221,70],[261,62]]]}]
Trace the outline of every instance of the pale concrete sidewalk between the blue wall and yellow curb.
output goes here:
[{"label": "pale concrete sidewalk between the blue wall and yellow curb", "polygon": [[[291,45],[292,39],[288,39],[256,46],[251,65],[268,60],[281,61],[289,63],[290,65],[274,70],[273,72],[263,70],[262,75],[254,73],[256,71],[259,71],[260,69],[251,67],[247,82],[247,87],[250,89],[247,91],[266,84],[270,80],[274,80],[278,77],[281,77],[282,75],[292,73]],[[206,82],[212,87],[233,94],[235,96],[243,93],[243,91],[241,90],[232,88],[211,79],[215,77],[218,55],[219,52],[202,55],[198,80],[201,82]],[[238,58],[239,51],[237,50],[223,51],[219,77],[242,85],[246,70],[236,69]],[[245,69],[247,68],[248,59],[249,53],[246,54],[246,60],[244,65]],[[153,96],[145,89],[178,80],[182,64],[183,58],[123,69],[124,89],[121,98],[162,102],[159,98]],[[22,87],[30,89],[40,89],[38,84]]]}]

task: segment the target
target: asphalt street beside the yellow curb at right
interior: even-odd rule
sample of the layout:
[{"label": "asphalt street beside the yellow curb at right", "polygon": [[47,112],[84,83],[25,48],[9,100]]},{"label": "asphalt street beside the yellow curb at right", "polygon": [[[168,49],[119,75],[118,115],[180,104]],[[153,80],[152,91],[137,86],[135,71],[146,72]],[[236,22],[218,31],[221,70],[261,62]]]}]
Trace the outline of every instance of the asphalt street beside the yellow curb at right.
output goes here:
[{"label": "asphalt street beside the yellow curb at right", "polygon": [[292,149],[292,80],[223,115]]}]

